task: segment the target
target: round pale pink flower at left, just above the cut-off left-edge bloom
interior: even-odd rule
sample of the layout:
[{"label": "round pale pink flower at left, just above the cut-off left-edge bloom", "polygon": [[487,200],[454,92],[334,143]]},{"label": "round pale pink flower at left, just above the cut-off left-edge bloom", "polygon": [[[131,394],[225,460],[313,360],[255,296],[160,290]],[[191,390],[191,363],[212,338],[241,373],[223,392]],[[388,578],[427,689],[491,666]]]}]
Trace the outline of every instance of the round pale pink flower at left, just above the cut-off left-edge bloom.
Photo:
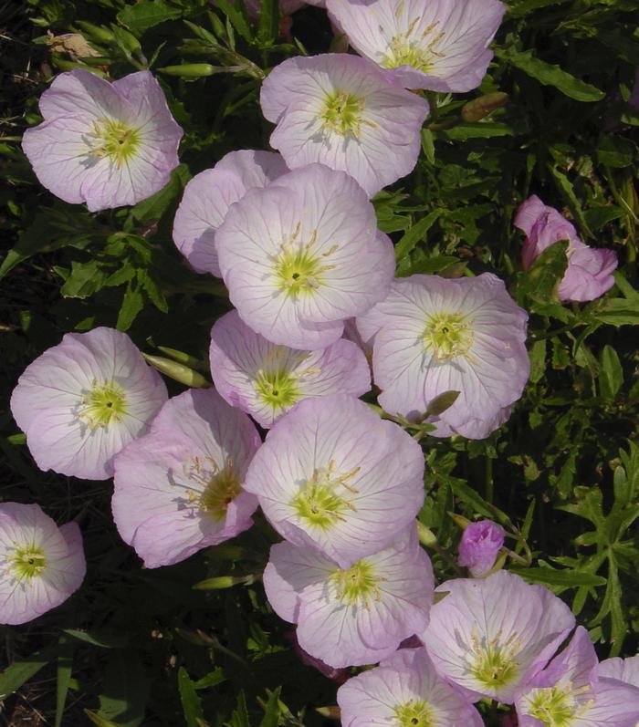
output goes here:
[{"label": "round pale pink flower at left, just above the cut-off left-edge bloom", "polygon": [[166,401],[160,375],[113,328],[68,333],[22,374],[11,411],[41,470],[106,480]]}]

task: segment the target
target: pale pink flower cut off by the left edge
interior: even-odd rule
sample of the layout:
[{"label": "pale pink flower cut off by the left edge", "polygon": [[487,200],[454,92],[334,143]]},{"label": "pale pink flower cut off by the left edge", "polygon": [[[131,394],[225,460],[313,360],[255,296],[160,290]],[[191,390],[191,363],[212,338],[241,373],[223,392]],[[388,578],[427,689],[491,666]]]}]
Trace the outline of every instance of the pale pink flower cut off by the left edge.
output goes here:
[{"label": "pale pink flower cut off by the left edge", "polygon": [[86,570],[77,523],[58,527],[38,504],[0,504],[0,623],[24,624],[56,608]]}]

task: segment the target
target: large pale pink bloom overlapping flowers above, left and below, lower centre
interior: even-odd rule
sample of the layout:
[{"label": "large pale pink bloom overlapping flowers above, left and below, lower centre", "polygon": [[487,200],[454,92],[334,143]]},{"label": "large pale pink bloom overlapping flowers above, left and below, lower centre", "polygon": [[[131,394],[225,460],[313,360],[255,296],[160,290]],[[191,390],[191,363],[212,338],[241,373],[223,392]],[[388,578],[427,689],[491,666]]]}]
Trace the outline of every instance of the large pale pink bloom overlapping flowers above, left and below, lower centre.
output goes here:
[{"label": "large pale pink bloom overlapping flowers above, left and below, lower centre", "polygon": [[245,489],[280,535],[349,568],[413,521],[424,502],[424,457],[360,400],[306,399],[268,432]]}]

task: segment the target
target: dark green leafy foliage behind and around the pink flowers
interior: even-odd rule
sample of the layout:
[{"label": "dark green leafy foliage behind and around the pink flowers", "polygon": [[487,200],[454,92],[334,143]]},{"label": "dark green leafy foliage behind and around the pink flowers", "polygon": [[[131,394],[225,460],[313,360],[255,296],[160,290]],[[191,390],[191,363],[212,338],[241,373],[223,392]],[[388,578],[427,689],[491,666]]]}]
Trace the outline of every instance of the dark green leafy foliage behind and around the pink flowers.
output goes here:
[{"label": "dark green leafy foliage behind and around the pink flowers", "polygon": [[[602,658],[636,653],[639,633],[639,114],[628,103],[638,10],[632,0],[509,2],[481,87],[428,94],[414,173],[374,200],[398,275],[492,271],[530,313],[531,378],[508,424],[486,441],[422,432],[420,520],[436,576],[456,575],[450,514],[495,519],[516,554],[507,566],[566,599]],[[255,23],[228,0],[0,5],[2,498],[35,501],[58,523],[78,519],[89,563],[62,607],[0,627],[0,723],[312,727],[334,717],[346,674],[329,680],[302,665],[259,584],[275,541],[266,522],[178,566],[141,569],[112,524],[110,482],[41,473],[8,410],[22,370],[68,331],[118,327],[147,353],[171,347],[205,361],[229,302],[173,246],[184,184],[227,151],[267,149],[261,78],[286,57],[330,48],[344,44],[324,11],[279,18],[273,0]],[[20,149],[50,78],[87,65],[107,78],[151,68],[185,132],[172,181],[132,208],[90,214],[60,202]],[[477,101],[497,92],[508,98]],[[605,297],[556,302],[561,244],[521,272],[512,218],[530,193],[571,218],[586,243],[619,255]],[[194,588],[215,576],[239,583]],[[486,712],[487,724],[497,719]]]}]

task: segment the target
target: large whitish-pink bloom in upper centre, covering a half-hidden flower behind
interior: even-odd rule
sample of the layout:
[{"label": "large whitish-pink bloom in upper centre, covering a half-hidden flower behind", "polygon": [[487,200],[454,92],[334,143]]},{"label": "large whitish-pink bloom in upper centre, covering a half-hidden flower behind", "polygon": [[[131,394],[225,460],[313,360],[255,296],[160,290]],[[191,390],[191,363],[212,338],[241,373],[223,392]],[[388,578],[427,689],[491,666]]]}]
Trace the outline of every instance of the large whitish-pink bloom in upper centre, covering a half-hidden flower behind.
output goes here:
[{"label": "large whitish-pink bloom in upper centre, covering a half-hidden flower behind", "polygon": [[248,190],[215,234],[231,302],[273,343],[326,348],[386,296],[393,244],[355,180],[323,164]]}]

